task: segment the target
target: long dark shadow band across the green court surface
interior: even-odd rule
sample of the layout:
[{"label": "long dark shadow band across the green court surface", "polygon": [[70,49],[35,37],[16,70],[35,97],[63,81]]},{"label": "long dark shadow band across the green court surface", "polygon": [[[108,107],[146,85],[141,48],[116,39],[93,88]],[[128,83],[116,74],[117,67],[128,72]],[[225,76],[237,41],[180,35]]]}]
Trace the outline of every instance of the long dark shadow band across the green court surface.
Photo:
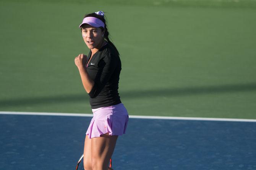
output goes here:
[{"label": "long dark shadow band across the green court surface", "polygon": [[[234,92],[248,92],[256,91],[256,83],[250,84],[227,84],[219,86],[199,86],[199,87],[186,87],[186,88],[171,88],[171,89],[154,89],[146,91],[124,91],[120,92],[122,99],[133,99],[133,98],[148,98],[148,97],[175,97],[175,96],[187,96],[187,95],[203,95],[203,94],[223,94],[223,93],[234,93]],[[65,102],[80,102],[87,100],[87,94],[68,94],[59,96],[49,97],[31,97],[31,98],[20,98],[20,99],[8,99],[0,100],[0,108],[6,108],[11,106],[20,105],[35,105],[35,104],[49,104],[49,103],[65,103]]]}]

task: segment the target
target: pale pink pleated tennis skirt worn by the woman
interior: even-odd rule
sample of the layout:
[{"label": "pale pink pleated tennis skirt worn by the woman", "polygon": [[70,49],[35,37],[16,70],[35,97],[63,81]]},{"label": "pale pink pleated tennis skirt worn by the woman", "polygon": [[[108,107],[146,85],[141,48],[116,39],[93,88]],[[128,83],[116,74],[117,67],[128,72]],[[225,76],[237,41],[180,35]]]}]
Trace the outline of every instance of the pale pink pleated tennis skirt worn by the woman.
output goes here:
[{"label": "pale pink pleated tennis skirt worn by the woman", "polygon": [[92,109],[92,112],[93,117],[86,132],[90,139],[105,133],[118,136],[125,133],[129,115],[123,103]]}]

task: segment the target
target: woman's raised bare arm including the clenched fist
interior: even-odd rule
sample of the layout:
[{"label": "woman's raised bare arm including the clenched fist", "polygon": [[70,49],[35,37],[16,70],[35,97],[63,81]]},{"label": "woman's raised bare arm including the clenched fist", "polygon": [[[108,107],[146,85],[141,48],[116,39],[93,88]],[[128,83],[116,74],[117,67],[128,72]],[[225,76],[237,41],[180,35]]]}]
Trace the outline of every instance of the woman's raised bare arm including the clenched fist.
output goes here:
[{"label": "woman's raised bare arm including the clenched fist", "polygon": [[94,81],[89,77],[87,73],[86,62],[87,62],[87,59],[84,54],[79,54],[75,58],[75,64],[78,67],[84,89],[87,93],[89,93],[91,92],[92,87],[94,86]]}]

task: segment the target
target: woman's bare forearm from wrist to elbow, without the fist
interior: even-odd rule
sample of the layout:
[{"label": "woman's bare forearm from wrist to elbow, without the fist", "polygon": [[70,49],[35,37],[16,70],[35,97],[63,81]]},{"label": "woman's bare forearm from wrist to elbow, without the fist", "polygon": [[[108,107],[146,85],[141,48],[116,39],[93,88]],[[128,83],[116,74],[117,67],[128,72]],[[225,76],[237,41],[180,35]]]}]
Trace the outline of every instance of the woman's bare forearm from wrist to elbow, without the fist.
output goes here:
[{"label": "woman's bare forearm from wrist to elbow, without the fist", "polygon": [[87,93],[89,93],[92,90],[92,87],[94,86],[94,81],[89,77],[86,68],[81,67],[78,68],[81,80],[84,86],[84,89]]}]

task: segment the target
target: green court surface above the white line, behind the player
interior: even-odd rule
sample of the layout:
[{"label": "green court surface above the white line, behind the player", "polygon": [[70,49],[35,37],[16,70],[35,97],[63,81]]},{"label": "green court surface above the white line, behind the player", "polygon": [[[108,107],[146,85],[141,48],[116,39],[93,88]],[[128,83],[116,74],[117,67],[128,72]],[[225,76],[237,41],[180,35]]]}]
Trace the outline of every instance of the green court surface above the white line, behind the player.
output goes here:
[{"label": "green court surface above the white line, behind the player", "polygon": [[105,11],[131,115],[256,119],[256,1],[0,2],[0,111],[91,113],[78,25]]}]

